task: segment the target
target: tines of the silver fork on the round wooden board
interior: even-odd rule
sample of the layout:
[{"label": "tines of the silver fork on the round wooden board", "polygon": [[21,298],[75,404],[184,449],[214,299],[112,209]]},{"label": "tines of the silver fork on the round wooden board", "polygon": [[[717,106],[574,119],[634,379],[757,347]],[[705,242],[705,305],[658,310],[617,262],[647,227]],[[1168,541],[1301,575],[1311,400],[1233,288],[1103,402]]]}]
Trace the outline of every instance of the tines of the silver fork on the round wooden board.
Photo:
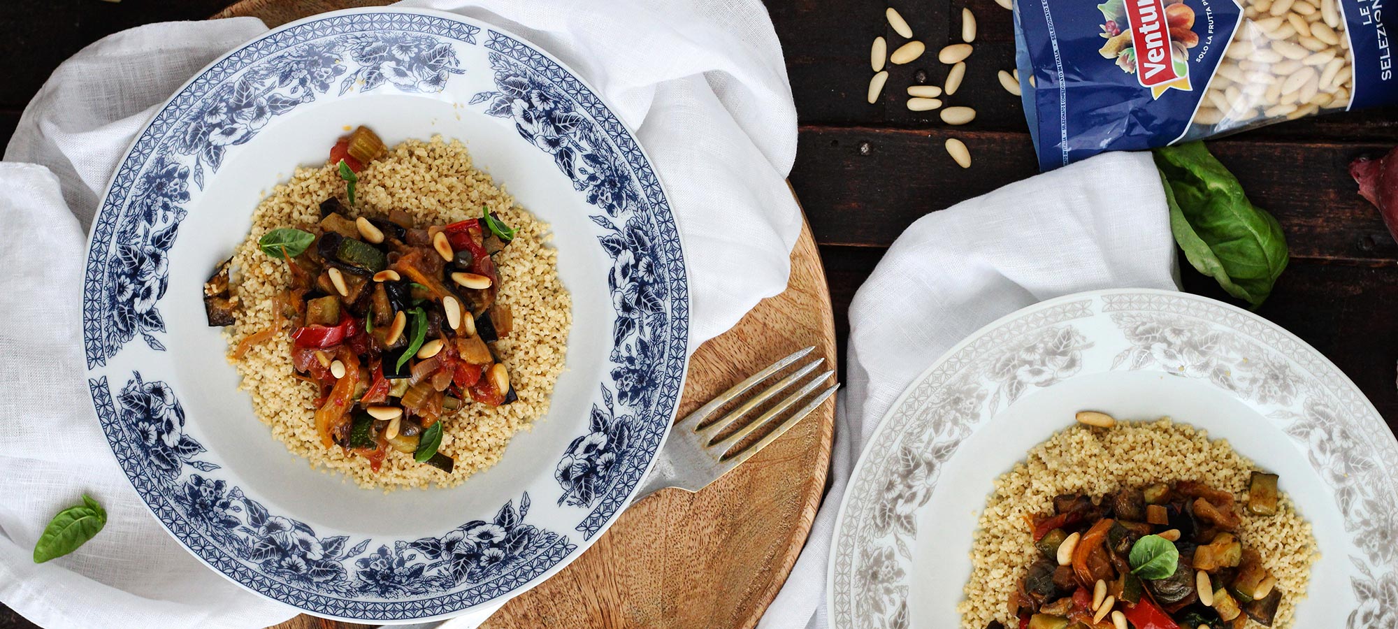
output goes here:
[{"label": "tines of the silver fork on the round wooden board", "polygon": [[[751,389],[776,377],[776,375],[780,373],[783,369],[791,366],[801,358],[805,358],[812,351],[815,351],[815,347],[800,349],[791,354],[790,356],[786,356],[772,363],[766,369],[754,373],[751,377],[734,384],[727,391],[720,393],[717,397],[709,401],[709,404],[705,404],[703,407],[692,412],[689,417],[686,417],[681,424],[685,425],[686,428],[691,428],[695,433],[698,433],[700,436],[700,444],[705,447],[705,451],[707,451],[719,463],[726,464],[724,467],[737,465],[738,463],[742,463],[752,454],[756,454],[758,450],[762,450],[769,443],[774,442],[787,429],[794,426],[795,422],[809,415],[821,405],[821,403],[823,403],[828,397],[835,394],[835,390],[839,389],[837,383],[822,389],[819,393],[815,393],[814,397],[811,396],[812,391],[821,389],[822,384],[825,384],[830,379],[830,376],[835,375],[835,370],[828,369],[816,375],[815,377],[811,377],[804,384],[797,386],[794,393],[772,404],[772,407],[763,411],[761,415],[747,421],[742,425],[742,428],[738,428],[737,431],[728,435],[724,435],[727,429],[737,425],[740,419],[748,417],[755,408],[774,400],[779,394],[791,389],[798,382],[805,379],[808,375],[811,375],[811,372],[814,372],[816,368],[825,363],[825,358],[816,358],[811,362],[807,362],[805,365],[801,365],[791,373],[781,376],[779,380],[776,380],[766,389],[758,391],[749,398],[742,400],[741,404],[738,404],[734,410],[728,411],[721,418],[714,419],[713,415],[716,415],[717,411],[724,405],[742,398],[744,394],[747,394]],[[800,404],[802,400],[807,400],[804,405],[798,407],[794,412],[787,412],[793,407]],[[770,429],[770,432],[763,435],[762,439],[758,439],[752,443],[744,443],[744,439],[747,439],[749,435],[768,425],[773,425],[773,428]],[[734,444],[742,444],[742,447],[734,449],[733,447]]]}]

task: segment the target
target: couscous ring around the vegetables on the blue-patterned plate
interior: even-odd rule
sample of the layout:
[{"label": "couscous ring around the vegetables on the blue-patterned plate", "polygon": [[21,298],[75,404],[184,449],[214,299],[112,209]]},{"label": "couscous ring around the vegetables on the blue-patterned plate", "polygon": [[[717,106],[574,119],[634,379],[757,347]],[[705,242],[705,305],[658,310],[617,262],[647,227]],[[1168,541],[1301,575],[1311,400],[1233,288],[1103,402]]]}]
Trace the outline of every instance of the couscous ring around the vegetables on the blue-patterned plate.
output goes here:
[{"label": "couscous ring around the vegetables on the blue-patterned plate", "polygon": [[[257,239],[277,228],[315,224],[320,219],[320,201],[331,196],[345,201],[345,183],[336,168],[306,168],[257,205],[252,231],[233,254],[232,267],[242,278],[233,288],[239,302],[236,323],[224,330],[229,352],[245,337],[273,326],[274,299],[291,284],[287,264],[263,253]],[[306,457],[313,467],[384,491],[459,485],[499,461],[510,438],[548,412],[572,326],[572,301],[558,280],[558,252],[548,246],[548,225],[516,205],[489,175],[473,168],[459,141],[435,137],[429,143],[398,144],[359,172],[355,201],[375,215],[403,210],[419,225],[477,218],[485,205],[519,231],[510,246],[495,256],[500,275],[498,299],[514,314],[513,333],[495,348],[509,369],[519,401],[493,408],[467,403],[445,415],[439,451],[456,460],[450,474],[391,449],[375,472],[363,457],[322,444],[313,419],[317,391],[292,377],[289,330],[231,362],[242,376],[240,389],[252,394],[257,417],[288,450]]]}]

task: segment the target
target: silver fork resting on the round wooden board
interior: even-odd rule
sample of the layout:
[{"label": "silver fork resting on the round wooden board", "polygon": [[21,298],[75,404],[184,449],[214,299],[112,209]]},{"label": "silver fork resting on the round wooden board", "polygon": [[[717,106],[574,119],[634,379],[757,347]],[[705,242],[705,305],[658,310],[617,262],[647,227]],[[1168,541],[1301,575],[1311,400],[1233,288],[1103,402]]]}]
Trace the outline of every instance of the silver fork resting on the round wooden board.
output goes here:
[{"label": "silver fork resting on the round wooden board", "polygon": [[[691,412],[688,417],[675,424],[674,428],[670,429],[670,438],[665,439],[664,450],[661,450],[660,457],[656,460],[656,465],[650,470],[650,475],[646,477],[644,485],[640,488],[640,492],[636,493],[635,500],[667,486],[678,486],[681,489],[698,492],[710,482],[717,481],[734,467],[738,467],[742,461],[747,461],[749,457],[756,454],[758,450],[772,444],[772,442],[777,440],[777,438],[794,426],[795,422],[815,411],[821,403],[835,394],[835,390],[840,387],[839,383],[830,384],[814,397],[809,397],[809,401],[807,401],[805,405],[793,412],[787,412],[791,407],[800,404],[801,400],[811,396],[812,391],[821,389],[821,386],[829,380],[832,375],[835,375],[833,369],[828,369],[809,379],[807,383],[801,384],[795,393],[791,393],[781,401],[777,401],[772,405],[772,408],[768,408],[756,418],[752,418],[731,435],[723,435],[728,428],[737,425],[740,419],[751,414],[752,410],[773,400],[777,394],[786,391],[819,368],[825,362],[825,358],[816,358],[797,368],[794,372],[772,383],[772,386],[742,400],[742,403],[733,411],[728,411],[728,414],[719,419],[712,419],[720,408],[738,401],[749,390],[772,379],[774,375],[791,366],[801,358],[805,358],[812,351],[815,351],[815,348],[808,347],[772,363],[772,366],[754,373],[748,379],[734,384],[727,391],[720,393],[717,397],[710,400],[709,404],[699,407],[695,412]],[[766,425],[774,425],[776,428],[763,435],[762,439],[744,446],[741,450],[733,449],[734,444],[741,443],[745,438]],[[721,439],[720,435],[723,435]]]}]

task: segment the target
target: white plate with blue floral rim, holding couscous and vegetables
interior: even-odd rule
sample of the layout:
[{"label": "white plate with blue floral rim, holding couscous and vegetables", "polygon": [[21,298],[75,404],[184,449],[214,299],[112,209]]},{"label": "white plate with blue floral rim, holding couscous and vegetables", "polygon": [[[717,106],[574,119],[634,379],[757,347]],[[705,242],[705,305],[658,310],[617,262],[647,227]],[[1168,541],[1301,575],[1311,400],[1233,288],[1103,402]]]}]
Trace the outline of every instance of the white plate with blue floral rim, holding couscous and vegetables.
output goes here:
[{"label": "white plate with blue floral rim, holding couscous and vegetables", "polygon": [[[552,411],[454,489],[384,495],[310,470],[206,326],[201,285],[259,200],[354,124],[466,141],[552,224],[573,296]],[[663,186],[587,84],[488,24],[373,8],[259,36],[159,109],[94,222],[82,328],[112,451],[171,535],[306,612],[407,622],[498,605],[615,521],[675,414],[689,295]]]}]

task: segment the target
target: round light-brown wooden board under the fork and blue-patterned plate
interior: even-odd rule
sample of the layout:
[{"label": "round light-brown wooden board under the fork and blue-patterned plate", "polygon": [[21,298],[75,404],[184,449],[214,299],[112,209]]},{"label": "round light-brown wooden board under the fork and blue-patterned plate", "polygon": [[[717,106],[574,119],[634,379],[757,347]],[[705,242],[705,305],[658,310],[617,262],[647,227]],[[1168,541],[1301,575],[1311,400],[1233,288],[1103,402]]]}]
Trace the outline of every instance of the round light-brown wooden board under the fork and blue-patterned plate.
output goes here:
[{"label": "round light-brown wooden board under the fork and blue-patterned plate", "polygon": [[[215,18],[267,27],[375,0],[243,0]],[[699,347],[678,417],[807,345],[835,365],[830,294],[809,225],[791,252],[786,292]],[[795,563],[829,468],[835,398],[699,493],[664,489],[628,509],[587,552],[482,625],[506,628],[727,629],[758,623]],[[296,616],[280,629],[355,628]]]}]

